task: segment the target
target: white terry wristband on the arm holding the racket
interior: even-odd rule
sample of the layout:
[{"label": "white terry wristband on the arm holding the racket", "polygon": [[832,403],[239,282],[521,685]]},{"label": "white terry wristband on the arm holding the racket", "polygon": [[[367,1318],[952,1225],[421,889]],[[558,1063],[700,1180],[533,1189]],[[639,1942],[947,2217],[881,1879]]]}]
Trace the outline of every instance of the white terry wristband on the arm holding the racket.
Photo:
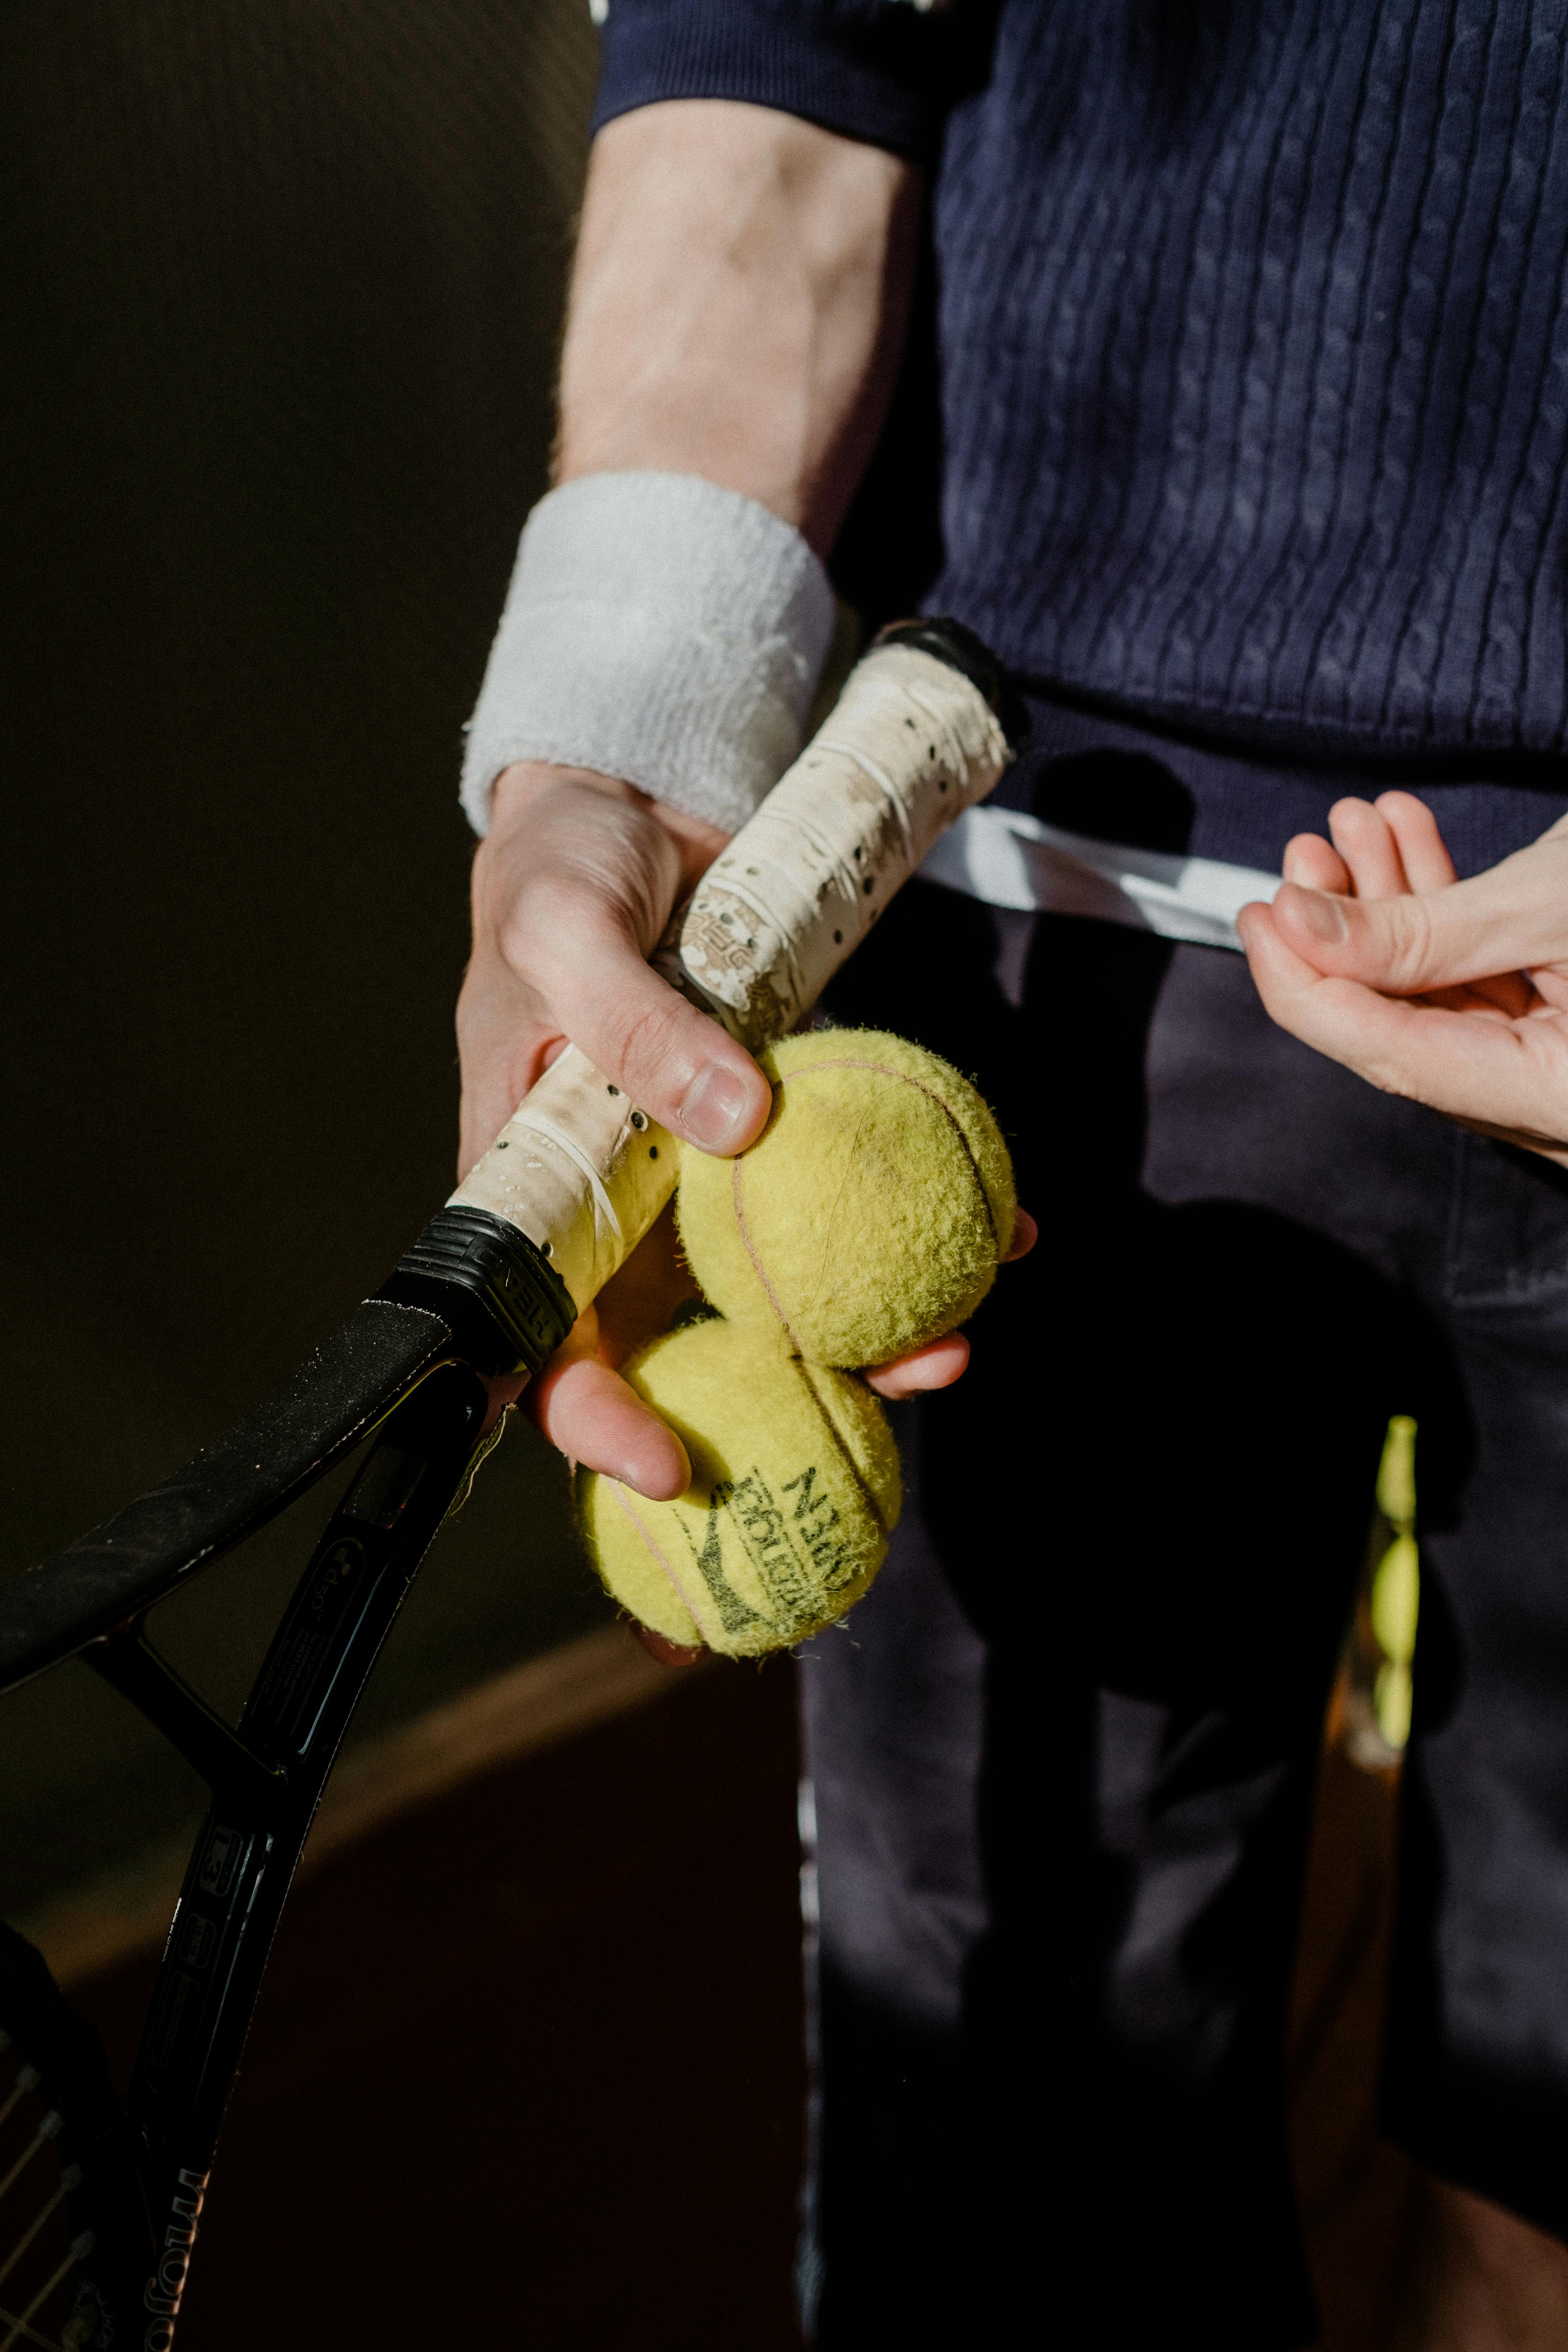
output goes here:
[{"label": "white terry wristband on the arm holding the racket", "polygon": [[489,833],[512,760],[552,760],[733,833],[799,753],[835,612],[799,532],[736,489],[564,482],[527,520],[468,722],[468,821]]}]

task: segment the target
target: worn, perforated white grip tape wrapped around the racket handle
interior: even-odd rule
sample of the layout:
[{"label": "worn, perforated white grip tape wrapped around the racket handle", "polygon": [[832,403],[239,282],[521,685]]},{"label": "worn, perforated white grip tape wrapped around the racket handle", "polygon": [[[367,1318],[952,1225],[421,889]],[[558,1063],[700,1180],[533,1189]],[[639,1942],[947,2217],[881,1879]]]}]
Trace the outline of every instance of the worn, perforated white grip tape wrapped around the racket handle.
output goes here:
[{"label": "worn, perforated white grip tape wrapped around the racket handle", "polygon": [[[969,677],[917,647],[877,647],[710,866],[656,964],[759,1051],[811,1011],[1009,757]],[[677,1167],[677,1138],[567,1047],[451,1202],[517,1225],[581,1312],[663,1209]]]}]

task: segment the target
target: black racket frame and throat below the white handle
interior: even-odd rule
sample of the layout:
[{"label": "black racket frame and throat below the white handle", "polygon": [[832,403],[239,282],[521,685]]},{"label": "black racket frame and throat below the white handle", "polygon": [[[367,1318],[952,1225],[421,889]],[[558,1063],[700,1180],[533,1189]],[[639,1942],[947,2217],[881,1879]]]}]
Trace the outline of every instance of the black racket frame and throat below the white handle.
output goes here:
[{"label": "black racket frame and throat below the white handle", "polygon": [[[223,2107],[322,1790],[425,1550],[501,1435],[482,1374],[536,1371],[569,1324],[534,1244],[447,1209],[247,1421],[5,1590],[0,1693],[80,1658],[212,1790],[125,2100],[40,1955],[0,1929],[0,2027],[42,2074],[82,2173],[73,2340],[87,2352],[174,2345]],[[364,1439],[228,1724],[158,1653],[148,1611]]]}]

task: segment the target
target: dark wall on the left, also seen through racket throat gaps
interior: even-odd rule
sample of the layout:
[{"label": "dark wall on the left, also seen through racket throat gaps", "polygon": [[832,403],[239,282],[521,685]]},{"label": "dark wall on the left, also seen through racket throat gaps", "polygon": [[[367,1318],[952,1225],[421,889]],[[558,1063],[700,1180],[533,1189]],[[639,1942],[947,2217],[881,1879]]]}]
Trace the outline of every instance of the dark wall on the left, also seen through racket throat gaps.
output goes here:
[{"label": "dark wall on the left, also seen through racket throat gaps", "polygon": [[[585,0],[0,24],[0,1564],[172,1468],[451,1185],[456,809],[550,379]],[[237,1698],[299,1526],[160,1611]],[[512,1435],[362,1729],[602,1616]],[[0,1905],[197,1804],[80,1668],[0,1710]]]}]

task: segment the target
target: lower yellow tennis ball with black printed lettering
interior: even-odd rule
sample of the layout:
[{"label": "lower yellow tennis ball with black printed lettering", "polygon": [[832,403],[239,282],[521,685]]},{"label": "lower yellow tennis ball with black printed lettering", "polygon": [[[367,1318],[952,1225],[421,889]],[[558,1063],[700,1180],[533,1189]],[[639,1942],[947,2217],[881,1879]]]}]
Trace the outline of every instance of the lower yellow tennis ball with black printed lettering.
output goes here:
[{"label": "lower yellow tennis ball with black printed lettering", "polygon": [[682,1437],[691,1486],[649,1503],[578,1475],[581,1526],[621,1606],[731,1658],[842,1616],[898,1522],[898,1449],[872,1392],[717,1317],[656,1338],[623,1374]]}]

